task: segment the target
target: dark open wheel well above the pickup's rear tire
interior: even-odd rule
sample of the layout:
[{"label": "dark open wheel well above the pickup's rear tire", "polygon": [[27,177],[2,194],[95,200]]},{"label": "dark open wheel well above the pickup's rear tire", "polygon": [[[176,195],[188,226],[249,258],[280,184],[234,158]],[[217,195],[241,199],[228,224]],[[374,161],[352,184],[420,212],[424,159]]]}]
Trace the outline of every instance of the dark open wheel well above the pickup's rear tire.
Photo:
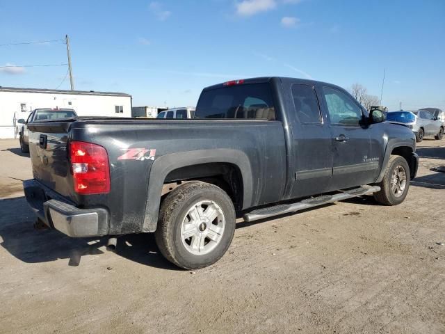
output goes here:
[{"label": "dark open wheel well above the pickup's rear tire", "polygon": [[243,207],[243,176],[238,166],[229,163],[208,163],[185,166],[172,170],[165,177],[163,195],[177,185],[189,181],[215,184],[232,198],[235,209]]}]

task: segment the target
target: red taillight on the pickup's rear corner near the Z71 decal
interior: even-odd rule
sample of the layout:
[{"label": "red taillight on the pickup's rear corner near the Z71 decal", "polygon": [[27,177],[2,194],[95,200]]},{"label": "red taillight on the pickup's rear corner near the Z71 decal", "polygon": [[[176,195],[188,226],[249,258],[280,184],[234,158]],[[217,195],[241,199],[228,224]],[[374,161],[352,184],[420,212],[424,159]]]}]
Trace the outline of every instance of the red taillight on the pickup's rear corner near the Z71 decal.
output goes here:
[{"label": "red taillight on the pickup's rear corner near the Z71 decal", "polygon": [[110,192],[110,168],[105,148],[83,141],[70,143],[74,191],[83,195]]}]

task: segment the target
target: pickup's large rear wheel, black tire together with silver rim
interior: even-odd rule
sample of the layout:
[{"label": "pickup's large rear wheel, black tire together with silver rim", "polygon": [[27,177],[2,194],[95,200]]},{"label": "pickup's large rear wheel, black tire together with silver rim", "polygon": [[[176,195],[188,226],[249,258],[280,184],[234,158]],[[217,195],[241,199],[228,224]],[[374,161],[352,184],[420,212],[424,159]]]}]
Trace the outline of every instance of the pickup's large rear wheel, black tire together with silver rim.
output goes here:
[{"label": "pickup's large rear wheel, black tire together with silver rim", "polygon": [[223,189],[205,182],[188,182],[163,201],[156,244],[177,267],[204,268],[220,260],[229,248],[235,219],[234,205]]}]

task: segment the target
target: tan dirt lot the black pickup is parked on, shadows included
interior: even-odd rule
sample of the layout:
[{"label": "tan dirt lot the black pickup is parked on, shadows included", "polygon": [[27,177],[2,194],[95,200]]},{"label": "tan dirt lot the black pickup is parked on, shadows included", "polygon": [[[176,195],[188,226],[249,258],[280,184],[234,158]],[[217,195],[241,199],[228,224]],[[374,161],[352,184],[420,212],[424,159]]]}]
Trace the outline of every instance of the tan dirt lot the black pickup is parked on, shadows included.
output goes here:
[{"label": "tan dirt lot the black pickup is parked on, shadows included", "polygon": [[196,272],[151,235],[33,230],[18,141],[0,141],[0,333],[445,333],[445,140],[425,140],[397,207],[371,197],[262,223]]}]

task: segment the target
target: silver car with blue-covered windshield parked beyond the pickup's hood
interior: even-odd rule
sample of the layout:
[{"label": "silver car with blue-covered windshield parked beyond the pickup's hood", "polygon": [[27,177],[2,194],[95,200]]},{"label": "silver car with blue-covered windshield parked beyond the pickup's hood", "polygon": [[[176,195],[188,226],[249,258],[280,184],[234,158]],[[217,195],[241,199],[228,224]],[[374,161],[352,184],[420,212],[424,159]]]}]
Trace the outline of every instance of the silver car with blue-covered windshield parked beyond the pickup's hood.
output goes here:
[{"label": "silver car with blue-covered windshield parked beyond the pickup's hood", "polygon": [[425,110],[390,111],[387,113],[387,121],[410,127],[418,143],[423,141],[424,136],[435,136],[437,140],[444,136],[444,123]]}]

